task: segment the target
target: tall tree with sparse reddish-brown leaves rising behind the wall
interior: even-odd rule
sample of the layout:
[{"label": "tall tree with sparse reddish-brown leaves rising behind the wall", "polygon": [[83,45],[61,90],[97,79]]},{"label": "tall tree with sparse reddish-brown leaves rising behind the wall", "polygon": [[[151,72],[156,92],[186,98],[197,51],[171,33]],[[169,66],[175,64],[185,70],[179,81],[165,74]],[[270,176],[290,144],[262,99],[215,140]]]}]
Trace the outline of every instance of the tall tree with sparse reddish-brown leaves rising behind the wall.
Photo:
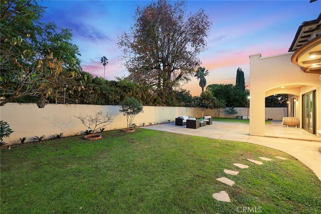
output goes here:
[{"label": "tall tree with sparse reddish-brown leaves rising behind the wall", "polygon": [[204,10],[187,17],[182,1],[138,6],[134,25],[118,42],[131,80],[151,85],[168,104],[173,88],[190,81],[201,64],[210,26]]}]

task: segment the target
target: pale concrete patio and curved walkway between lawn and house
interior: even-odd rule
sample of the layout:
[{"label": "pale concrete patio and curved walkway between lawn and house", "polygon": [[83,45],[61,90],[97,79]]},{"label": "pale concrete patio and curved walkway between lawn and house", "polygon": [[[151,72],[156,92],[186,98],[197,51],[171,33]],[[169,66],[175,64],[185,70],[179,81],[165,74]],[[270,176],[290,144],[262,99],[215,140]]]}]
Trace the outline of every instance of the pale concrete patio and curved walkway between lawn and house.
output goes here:
[{"label": "pale concrete patio and curved walkway between lawn and house", "polygon": [[265,136],[250,136],[249,124],[213,121],[199,129],[176,126],[175,123],[143,126],[141,128],[196,135],[222,140],[253,143],[286,152],[309,167],[321,180],[321,137],[301,128],[285,127],[281,121],[265,125]]}]

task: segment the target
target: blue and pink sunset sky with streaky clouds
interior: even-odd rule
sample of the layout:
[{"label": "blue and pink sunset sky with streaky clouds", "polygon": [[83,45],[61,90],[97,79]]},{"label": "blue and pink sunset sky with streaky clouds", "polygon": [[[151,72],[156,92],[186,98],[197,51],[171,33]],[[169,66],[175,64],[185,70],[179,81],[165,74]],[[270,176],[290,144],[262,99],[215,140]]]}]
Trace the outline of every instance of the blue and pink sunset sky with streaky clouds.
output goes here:
[{"label": "blue and pink sunset sky with streaky clouds", "polygon": [[[172,1],[174,2],[174,1]],[[150,1],[44,1],[42,22],[72,30],[72,43],[79,47],[81,65],[93,76],[104,77],[100,62],[106,56],[105,78],[128,76],[117,47],[118,37],[134,24],[137,6]],[[315,20],[321,0],[302,1],[186,1],[187,15],[204,9],[212,22],[207,49],[199,55],[209,70],[207,85],[235,84],[237,68],[244,72],[249,88],[249,56],[268,57],[287,53],[298,27]],[[193,96],[201,93],[196,78],[182,86]]]}]

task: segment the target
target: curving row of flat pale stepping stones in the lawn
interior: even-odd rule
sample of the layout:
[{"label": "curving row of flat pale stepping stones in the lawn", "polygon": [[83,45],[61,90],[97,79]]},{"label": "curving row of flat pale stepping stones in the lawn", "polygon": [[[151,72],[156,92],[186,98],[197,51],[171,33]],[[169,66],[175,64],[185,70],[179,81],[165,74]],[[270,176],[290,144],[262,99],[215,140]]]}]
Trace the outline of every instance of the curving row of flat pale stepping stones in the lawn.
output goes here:
[{"label": "curving row of flat pale stepping stones in the lawn", "polygon": [[[280,156],[275,156],[275,157],[278,158],[278,159],[281,159],[281,160],[287,160],[284,157],[280,157]],[[259,158],[261,160],[265,160],[265,161],[272,161],[272,159],[266,158],[266,157],[259,157]],[[252,163],[255,163],[257,165],[263,165],[263,162],[258,161],[258,160],[253,160],[253,159],[247,159],[247,160],[251,161]],[[237,166],[237,167],[239,167],[241,169],[245,169],[245,168],[249,167],[248,165],[244,165],[244,164],[241,164],[241,163],[233,163],[233,165]],[[224,172],[226,174],[230,174],[230,175],[237,175],[239,173],[239,171],[233,171],[233,170],[230,170],[230,169],[224,169]],[[229,179],[227,177],[216,178],[216,180],[221,181],[222,183],[225,183],[225,184],[230,185],[230,186],[233,186],[235,184],[234,180],[231,180],[231,179]],[[231,202],[229,194],[224,190],[222,190],[220,192],[213,193],[212,196],[218,201]]]}]

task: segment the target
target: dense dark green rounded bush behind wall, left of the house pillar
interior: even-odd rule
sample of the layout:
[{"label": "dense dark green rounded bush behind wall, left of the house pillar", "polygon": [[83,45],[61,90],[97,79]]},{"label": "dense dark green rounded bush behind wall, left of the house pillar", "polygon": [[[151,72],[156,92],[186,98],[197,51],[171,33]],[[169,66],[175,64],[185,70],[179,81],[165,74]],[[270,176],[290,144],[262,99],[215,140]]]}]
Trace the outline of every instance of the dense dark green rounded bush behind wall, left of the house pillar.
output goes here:
[{"label": "dense dark green rounded bush behind wall, left of the house pillar", "polygon": [[216,99],[224,100],[226,106],[246,107],[249,91],[242,91],[233,84],[211,84],[206,87]]}]

